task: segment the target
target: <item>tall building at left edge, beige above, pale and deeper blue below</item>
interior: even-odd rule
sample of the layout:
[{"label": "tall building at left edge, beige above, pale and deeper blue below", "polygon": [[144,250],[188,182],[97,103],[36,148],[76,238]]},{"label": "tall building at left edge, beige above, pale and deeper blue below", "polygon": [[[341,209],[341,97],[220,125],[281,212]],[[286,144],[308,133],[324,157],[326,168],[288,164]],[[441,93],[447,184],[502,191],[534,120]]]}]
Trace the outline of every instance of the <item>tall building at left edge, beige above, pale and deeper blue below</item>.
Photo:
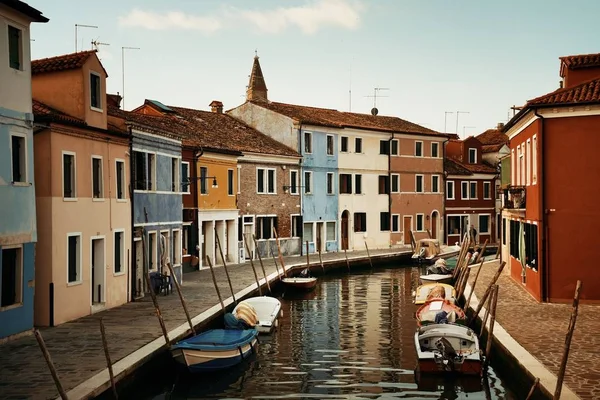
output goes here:
[{"label": "tall building at left edge, beige above, pale and deeper blue below", "polygon": [[31,22],[48,18],[21,1],[0,8],[0,338],[33,327],[37,231]]}]

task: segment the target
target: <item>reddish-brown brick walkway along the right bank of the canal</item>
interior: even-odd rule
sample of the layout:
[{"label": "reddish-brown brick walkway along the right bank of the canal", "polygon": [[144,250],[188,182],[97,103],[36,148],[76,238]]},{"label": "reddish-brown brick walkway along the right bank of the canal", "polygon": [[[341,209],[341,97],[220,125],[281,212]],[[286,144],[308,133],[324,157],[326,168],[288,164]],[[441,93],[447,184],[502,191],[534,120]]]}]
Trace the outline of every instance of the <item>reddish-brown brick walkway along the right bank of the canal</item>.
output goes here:
[{"label": "reddish-brown brick walkway along the right bank of the canal", "polygon": [[[494,262],[482,267],[475,286],[478,298],[483,296],[498,265],[498,262]],[[471,286],[477,269],[473,267],[470,273]],[[508,267],[504,268],[498,284],[496,320],[531,355],[558,375],[572,305],[538,303],[518,282],[510,278]],[[579,305],[571,341],[564,384],[582,399],[600,399],[599,312],[599,305]],[[554,393],[554,387],[548,389]]]}]

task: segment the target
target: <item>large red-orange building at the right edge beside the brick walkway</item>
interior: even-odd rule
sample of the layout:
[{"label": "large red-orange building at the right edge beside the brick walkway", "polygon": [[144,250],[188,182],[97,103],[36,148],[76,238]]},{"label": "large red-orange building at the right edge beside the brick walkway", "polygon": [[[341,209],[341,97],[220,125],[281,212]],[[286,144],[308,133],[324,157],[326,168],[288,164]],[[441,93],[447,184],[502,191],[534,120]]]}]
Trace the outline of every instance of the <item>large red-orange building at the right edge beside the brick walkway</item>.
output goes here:
[{"label": "large red-orange building at the right edge beside the brick walkway", "polygon": [[510,185],[502,255],[539,301],[569,301],[578,279],[581,299],[597,301],[600,269],[590,244],[600,225],[600,54],[560,60],[561,88],[529,100],[503,129]]}]

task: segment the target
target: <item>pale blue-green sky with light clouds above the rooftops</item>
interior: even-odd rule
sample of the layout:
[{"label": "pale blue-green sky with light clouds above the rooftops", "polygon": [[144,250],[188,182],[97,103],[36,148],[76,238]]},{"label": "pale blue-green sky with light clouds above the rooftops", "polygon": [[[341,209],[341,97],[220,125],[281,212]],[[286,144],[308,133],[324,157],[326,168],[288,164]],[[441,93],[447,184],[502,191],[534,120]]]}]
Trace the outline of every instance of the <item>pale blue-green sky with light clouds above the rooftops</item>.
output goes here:
[{"label": "pale blue-green sky with light clouds above the rooftops", "polygon": [[558,57],[600,52],[597,0],[25,1],[50,19],[32,24],[32,59],[98,27],[78,28],[78,49],[108,44],[109,93],[123,93],[122,47],[139,48],[124,51],[127,110],[234,108],[256,51],[271,101],[370,113],[384,88],[379,115],[465,137],[556,90]]}]

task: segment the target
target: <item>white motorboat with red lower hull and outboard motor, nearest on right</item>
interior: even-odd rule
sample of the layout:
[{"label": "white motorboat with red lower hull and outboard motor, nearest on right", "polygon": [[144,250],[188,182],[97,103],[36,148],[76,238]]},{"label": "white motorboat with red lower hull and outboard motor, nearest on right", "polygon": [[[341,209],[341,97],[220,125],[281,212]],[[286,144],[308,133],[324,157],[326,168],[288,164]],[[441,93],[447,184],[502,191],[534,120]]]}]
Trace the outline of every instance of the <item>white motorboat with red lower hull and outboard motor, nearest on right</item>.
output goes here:
[{"label": "white motorboat with red lower hull and outboard motor, nearest on right", "polygon": [[431,324],[415,332],[421,373],[481,375],[479,339],[472,329],[456,324]]}]

